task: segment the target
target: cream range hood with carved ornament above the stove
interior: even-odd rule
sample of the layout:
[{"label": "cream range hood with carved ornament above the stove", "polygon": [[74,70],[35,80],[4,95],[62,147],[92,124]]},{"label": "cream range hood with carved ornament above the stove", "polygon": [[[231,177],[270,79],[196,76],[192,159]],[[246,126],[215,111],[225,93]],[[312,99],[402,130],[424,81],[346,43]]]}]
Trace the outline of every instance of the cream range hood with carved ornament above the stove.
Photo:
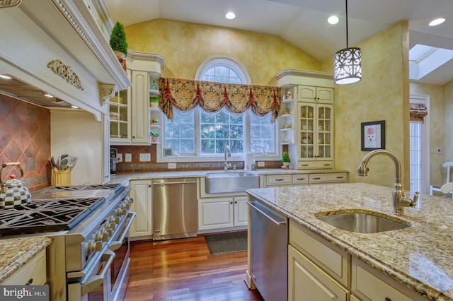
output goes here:
[{"label": "cream range hood with carved ornament above the stove", "polygon": [[0,74],[12,79],[0,79],[0,93],[51,110],[74,105],[101,120],[108,98],[132,85],[108,44],[103,2],[10,3],[0,1]]}]

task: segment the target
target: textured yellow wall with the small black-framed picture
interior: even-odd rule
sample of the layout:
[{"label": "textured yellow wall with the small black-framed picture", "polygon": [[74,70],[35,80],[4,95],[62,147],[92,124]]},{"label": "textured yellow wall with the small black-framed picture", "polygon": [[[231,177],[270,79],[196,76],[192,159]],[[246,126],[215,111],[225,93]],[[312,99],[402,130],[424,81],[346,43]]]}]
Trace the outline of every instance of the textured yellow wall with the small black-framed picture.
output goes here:
[{"label": "textured yellow wall with the small black-framed picture", "polygon": [[[350,171],[350,182],[393,187],[395,169],[390,158],[369,162],[368,177],[355,175],[367,153],[360,150],[360,124],[385,120],[386,150],[401,161],[404,187],[408,187],[408,24],[398,23],[360,42],[362,81],[335,89],[335,165]],[[323,62],[333,69],[333,60]]]}]

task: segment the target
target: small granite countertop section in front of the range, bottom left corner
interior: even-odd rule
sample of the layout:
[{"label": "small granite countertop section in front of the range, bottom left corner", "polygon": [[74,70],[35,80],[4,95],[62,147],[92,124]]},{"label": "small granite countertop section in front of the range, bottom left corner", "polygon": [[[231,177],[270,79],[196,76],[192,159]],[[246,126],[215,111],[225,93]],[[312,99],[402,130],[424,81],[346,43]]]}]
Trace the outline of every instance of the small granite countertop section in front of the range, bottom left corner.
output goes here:
[{"label": "small granite countertop section in front of the range, bottom left corner", "polygon": [[26,264],[52,240],[49,237],[23,237],[0,240],[0,283]]}]

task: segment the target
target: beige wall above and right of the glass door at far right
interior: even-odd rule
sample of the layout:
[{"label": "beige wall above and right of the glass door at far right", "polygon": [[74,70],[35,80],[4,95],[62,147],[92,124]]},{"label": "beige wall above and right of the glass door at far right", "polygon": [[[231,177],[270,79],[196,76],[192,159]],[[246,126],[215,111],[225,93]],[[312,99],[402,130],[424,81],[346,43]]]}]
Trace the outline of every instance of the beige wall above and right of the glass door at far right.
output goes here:
[{"label": "beige wall above and right of the glass door at far right", "polygon": [[[429,95],[430,97],[430,149],[444,147],[444,86],[428,85],[423,83],[411,83],[411,94]],[[453,93],[453,90],[452,90]],[[453,104],[452,104],[453,105]],[[446,107],[447,109],[447,107]],[[450,109],[452,112],[453,107]],[[445,119],[448,122],[448,119]],[[447,145],[447,144],[445,144]],[[444,181],[445,170],[442,168],[444,163],[445,151],[437,154],[435,151],[430,153],[430,184],[441,185]],[[453,151],[453,150],[452,150]],[[452,158],[453,159],[453,158]]]}]

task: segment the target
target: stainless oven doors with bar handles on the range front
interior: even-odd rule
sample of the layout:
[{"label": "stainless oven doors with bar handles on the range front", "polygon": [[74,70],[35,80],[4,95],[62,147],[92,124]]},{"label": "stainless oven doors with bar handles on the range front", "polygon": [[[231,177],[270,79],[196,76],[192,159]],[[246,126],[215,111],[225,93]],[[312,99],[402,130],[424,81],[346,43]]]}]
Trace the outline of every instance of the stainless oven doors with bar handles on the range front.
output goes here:
[{"label": "stainless oven doors with bar handles on the range front", "polygon": [[76,283],[68,284],[68,300],[122,300],[129,281],[130,242],[129,230],[135,213],[130,212],[127,218],[117,225],[101,261]]}]

